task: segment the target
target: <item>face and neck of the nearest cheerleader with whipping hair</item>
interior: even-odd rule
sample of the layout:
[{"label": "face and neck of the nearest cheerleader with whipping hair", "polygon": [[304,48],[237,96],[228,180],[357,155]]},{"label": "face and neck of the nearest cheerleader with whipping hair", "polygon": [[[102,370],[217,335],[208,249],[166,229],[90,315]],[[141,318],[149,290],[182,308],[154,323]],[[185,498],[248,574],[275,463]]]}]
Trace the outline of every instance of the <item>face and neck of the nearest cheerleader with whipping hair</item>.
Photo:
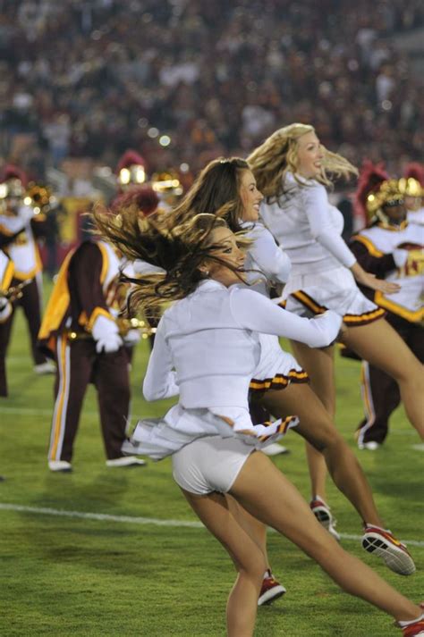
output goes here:
[{"label": "face and neck of the nearest cheerleader with whipping hair", "polygon": [[[207,259],[201,268],[202,272],[205,272],[205,274],[208,272],[210,279],[222,283],[225,288],[229,288],[234,283],[244,281],[245,275],[244,272],[241,272],[244,264],[244,253],[238,247],[233,232],[229,228],[216,228],[210,234],[210,243],[219,245],[219,248],[214,250],[213,255],[221,261],[225,261],[231,267],[226,267],[223,263]],[[232,268],[236,268],[239,272],[234,272]]]}]

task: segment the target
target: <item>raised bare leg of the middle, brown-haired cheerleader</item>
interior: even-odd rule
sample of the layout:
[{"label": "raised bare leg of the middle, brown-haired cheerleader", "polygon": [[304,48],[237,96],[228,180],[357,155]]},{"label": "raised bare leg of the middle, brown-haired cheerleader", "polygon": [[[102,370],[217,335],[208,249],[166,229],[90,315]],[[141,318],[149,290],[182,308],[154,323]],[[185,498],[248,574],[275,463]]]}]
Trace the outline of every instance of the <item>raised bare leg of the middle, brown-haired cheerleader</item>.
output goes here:
[{"label": "raised bare leg of the middle, brown-haired cheerleader", "polygon": [[292,383],[285,390],[268,390],[262,402],[276,417],[299,416],[301,422],[293,431],[300,433],[318,450],[335,485],[352,502],[362,520],[384,528],[369,482],[357,458],[310,387]]}]

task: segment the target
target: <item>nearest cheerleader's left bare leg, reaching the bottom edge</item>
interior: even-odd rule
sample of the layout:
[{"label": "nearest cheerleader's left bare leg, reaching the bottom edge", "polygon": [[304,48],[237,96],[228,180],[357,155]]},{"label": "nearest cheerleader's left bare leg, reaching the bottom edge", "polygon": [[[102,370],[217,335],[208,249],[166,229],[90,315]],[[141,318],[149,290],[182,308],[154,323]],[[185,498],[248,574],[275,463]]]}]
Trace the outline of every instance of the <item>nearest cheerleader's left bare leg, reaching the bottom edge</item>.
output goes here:
[{"label": "nearest cheerleader's left bare leg, reaching the bottom edge", "polygon": [[265,557],[231,513],[224,495],[198,496],[186,490],[182,493],[208,531],[223,544],[238,571],[227,602],[228,637],[251,637],[266,569]]}]

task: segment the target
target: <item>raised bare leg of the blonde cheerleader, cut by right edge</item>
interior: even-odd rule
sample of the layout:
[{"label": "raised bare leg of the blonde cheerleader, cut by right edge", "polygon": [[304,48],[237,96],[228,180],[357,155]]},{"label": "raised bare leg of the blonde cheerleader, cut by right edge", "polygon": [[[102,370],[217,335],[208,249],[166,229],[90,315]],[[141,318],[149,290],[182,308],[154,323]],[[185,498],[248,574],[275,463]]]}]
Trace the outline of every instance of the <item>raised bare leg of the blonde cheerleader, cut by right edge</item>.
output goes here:
[{"label": "raised bare leg of the blonde cheerleader, cut by right edge", "polygon": [[424,368],[399,334],[381,319],[348,328],[343,342],[394,378],[410,423],[424,439]]}]

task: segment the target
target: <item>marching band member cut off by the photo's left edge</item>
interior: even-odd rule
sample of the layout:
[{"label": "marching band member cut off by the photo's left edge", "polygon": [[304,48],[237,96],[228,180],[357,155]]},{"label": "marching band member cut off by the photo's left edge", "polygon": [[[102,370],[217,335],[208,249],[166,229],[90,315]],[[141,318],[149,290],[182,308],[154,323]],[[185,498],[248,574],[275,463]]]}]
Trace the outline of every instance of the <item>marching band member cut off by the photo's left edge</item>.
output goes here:
[{"label": "marching band member cut off by the photo's left edge", "polygon": [[[37,222],[30,205],[24,204],[26,175],[16,166],[4,169],[0,183],[0,246],[14,264],[14,285],[22,285],[20,298],[13,302],[13,311],[0,325],[0,357],[5,357],[11,338],[15,310],[21,306],[30,331],[34,371],[55,373],[55,366],[37,348],[41,323],[42,264],[35,239]],[[38,229],[39,230],[39,229]]]}]

